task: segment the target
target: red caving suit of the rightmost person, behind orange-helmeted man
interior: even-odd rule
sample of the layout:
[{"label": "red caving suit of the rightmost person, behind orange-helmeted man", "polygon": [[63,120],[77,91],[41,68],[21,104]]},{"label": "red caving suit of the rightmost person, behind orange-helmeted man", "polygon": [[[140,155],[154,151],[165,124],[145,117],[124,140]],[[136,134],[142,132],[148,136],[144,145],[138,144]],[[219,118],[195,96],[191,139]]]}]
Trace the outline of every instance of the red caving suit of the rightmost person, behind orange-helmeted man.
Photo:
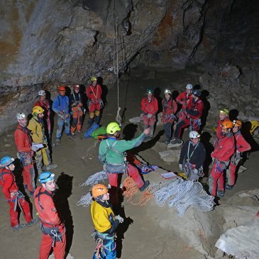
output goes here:
[{"label": "red caving suit of the rightmost person, behind orange-helmeted man", "polygon": [[230,165],[226,170],[226,178],[228,179],[228,185],[233,186],[236,183],[236,167],[242,159],[242,153],[251,149],[249,143],[243,138],[240,131],[234,133],[236,140],[236,152],[233,154]]}]

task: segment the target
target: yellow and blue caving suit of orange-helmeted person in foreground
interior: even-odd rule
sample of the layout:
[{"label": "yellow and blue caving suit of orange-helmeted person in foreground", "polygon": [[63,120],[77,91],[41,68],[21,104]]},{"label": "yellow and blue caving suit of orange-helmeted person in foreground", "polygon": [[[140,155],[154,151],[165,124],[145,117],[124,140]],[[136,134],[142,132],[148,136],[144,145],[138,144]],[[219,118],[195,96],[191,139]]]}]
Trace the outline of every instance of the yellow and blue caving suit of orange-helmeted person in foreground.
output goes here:
[{"label": "yellow and blue caving suit of orange-helmeted person in foreground", "polygon": [[[114,241],[114,233],[119,225],[119,220],[115,219],[114,211],[111,209],[111,204],[95,200],[91,204],[91,216],[94,223],[94,239],[98,242],[101,240],[101,246],[104,248],[104,253],[101,248],[94,251],[93,259],[115,259],[116,244]],[[98,257],[98,254],[100,257]]]}]

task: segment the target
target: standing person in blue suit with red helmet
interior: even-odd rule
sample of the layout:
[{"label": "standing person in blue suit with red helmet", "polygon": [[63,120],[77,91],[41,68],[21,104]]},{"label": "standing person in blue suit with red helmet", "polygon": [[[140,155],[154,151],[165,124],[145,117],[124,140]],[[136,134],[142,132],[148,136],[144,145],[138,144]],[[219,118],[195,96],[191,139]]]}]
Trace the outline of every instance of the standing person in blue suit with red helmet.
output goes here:
[{"label": "standing person in blue suit with red helmet", "polygon": [[70,134],[70,101],[68,97],[65,96],[65,87],[60,85],[58,92],[58,96],[55,97],[53,101],[53,111],[57,114],[56,145],[60,145],[60,138],[62,136],[62,129],[64,125],[67,137],[72,139],[72,135]]}]

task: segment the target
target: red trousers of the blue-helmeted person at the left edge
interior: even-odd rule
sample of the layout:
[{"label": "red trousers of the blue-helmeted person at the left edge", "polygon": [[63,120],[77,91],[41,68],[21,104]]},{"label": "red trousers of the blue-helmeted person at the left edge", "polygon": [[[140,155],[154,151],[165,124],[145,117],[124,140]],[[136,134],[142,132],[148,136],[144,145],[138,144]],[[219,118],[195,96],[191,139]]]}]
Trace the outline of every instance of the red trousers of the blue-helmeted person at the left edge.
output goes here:
[{"label": "red trousers of the blue-helmeted person at the left edge", "polygon": [[[32,220],[31,217],[31,210],[30,210],[30,205],[28,204],[28,202],[26,202],[25,199],[19,199],[19,202],[21,204],[21,208],[23,209],[23,213],[25,214],[24,218],[26,220],[26,222],[30,222]],[[19,220],[18,220],[18,205],[17,205],[17,209],[16,211],[14,211],[14,206],[15,203],[14,202],[8,202],[10,205],[10,221],[11,221],[11,227],[13,226],[17,226],[19,224]]]}]

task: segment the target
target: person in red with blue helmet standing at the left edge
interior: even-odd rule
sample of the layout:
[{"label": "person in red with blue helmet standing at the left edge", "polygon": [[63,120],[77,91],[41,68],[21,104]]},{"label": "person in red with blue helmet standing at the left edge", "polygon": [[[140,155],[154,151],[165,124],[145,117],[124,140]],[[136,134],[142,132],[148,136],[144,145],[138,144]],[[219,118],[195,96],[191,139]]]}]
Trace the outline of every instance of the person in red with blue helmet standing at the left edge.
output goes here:
[{"label": "person in red with blue helmet standing at the left edge", "polygon": [[[13,175],[13,170],[15,168],[13,162],[14,159],[9,155],[1,158],[0,185],[2,187],[4,196],[6,197],[6,201],[10,205],[11,228],[13,228],[13,231],[18,231],[24,226],[33,226],[37,220],[32,219],[30,205],[28,202],[26,202],[23,194],[18,190],[16,180]],[[24,215],[26,220],[25,225],[19,224],[18,209],[20,209]]]}]

